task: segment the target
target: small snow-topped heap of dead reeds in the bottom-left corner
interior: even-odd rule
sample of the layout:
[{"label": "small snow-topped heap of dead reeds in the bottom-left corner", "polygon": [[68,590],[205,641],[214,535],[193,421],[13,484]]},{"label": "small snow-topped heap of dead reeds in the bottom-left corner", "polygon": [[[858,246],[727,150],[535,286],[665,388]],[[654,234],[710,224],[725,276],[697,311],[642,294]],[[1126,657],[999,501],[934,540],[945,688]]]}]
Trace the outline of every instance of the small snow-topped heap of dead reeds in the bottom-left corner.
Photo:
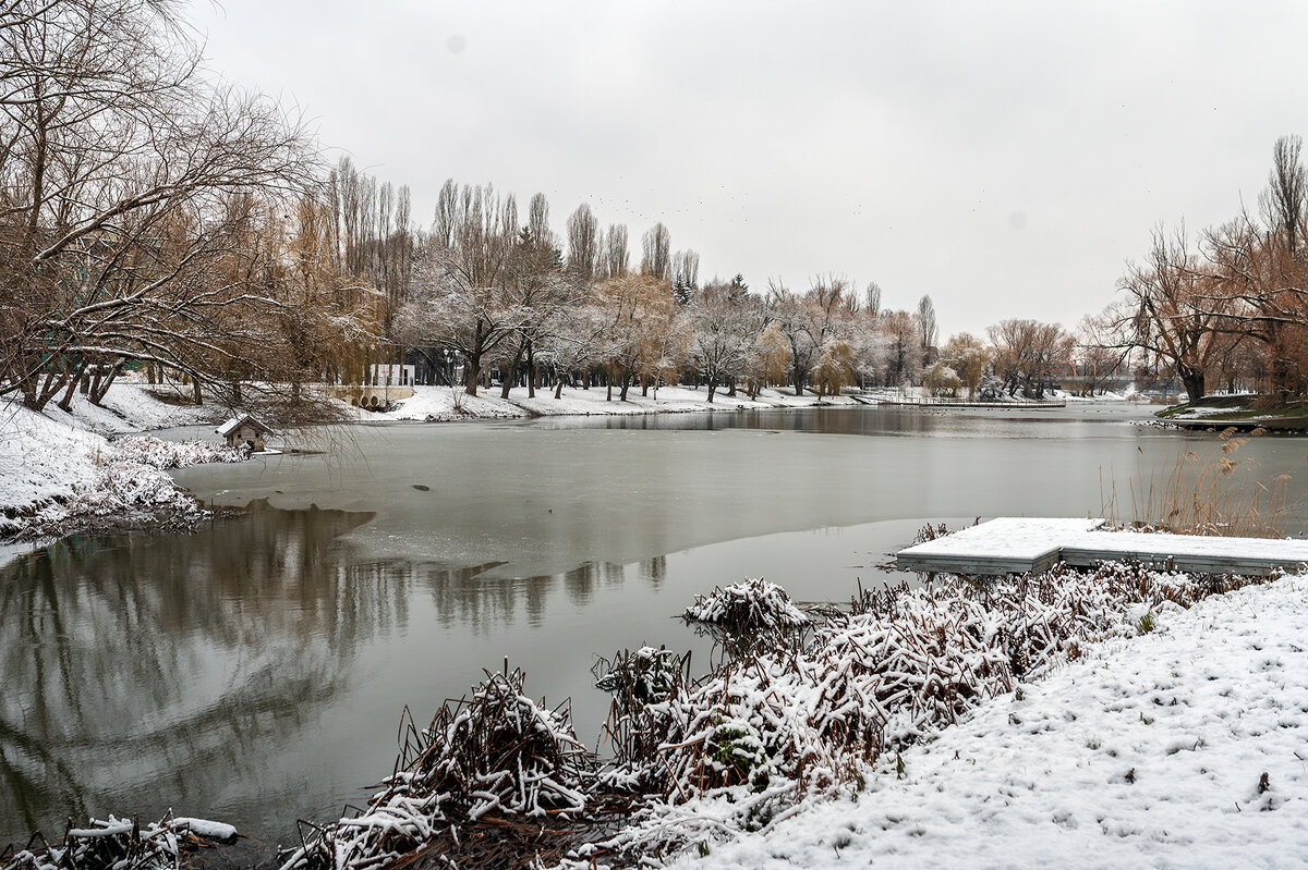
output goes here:
[{"label": "small snow-topped heap of dead reeds in the bottom-left corner", "polygon": [[0,853],[0,870],[177,870],[182,856],[200,839],[230,840],[235,828],[201,819],[173,818],[144,827],[132,819],[92,819],[85,828],[69,823],[63,839],[39,835],[26,848]]}]

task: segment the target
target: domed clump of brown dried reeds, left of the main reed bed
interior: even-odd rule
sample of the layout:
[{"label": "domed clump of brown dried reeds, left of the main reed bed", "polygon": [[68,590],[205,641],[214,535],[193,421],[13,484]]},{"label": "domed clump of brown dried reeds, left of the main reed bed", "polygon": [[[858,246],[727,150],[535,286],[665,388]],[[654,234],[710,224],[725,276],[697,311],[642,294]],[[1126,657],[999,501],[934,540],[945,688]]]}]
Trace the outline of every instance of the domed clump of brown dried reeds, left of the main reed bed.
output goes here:
[{"label": "domed clump of brown dried reeds, left of the main reed bed", "polygon": [[353,818],[310,826],[301,848],[283,856],[283,870],[385,866],[483,816],[581,814],[594,759],[573,732],[566,703],[539,705],[523,692],[523,679],[521,669],[487,671],[471,698],[447,701],[428,728],[407,718],[385,789]]}]

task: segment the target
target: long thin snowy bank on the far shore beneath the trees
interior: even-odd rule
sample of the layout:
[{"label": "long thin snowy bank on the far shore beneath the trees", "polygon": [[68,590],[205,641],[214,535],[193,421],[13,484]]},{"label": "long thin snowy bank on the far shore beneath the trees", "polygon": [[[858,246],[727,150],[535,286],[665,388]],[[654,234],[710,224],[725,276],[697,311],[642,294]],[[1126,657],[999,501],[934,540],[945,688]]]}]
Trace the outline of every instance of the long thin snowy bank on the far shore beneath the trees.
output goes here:
[{"label": "long thin snowy bank on the far shore beneath the trees", "polygon": [[527,388],[517,387],[509,398],[500,398],[498,389],[488,389],[476,396],[466,396],[462,389],[449,387],[415,387],[413,396],[392,404],[388,411],[358,411],[361,419],[419,419],[443,422],[479,418],[513,417],[562,417],[562,415],[623,415],[623,414],[678,414],[708,410],[753,410],[770,408],[812,408],[816,405],[855,405],[849,396],[825,396],[819,398],[812,393],[795,396],[794,391],[781,392],[764,389],[757,400],[749,400],[743,392],[727,396],[719,391],[709,404],[708,388],[659,387],[657,396],[641,396],[640,389],[630,389],[627,401],[619,400],[613,391],[612,401],[606,397],[604,387],[581,389],[564,388],[561,398],[555,398],[552,389],[538,389],[535,398],[527,398]]}]

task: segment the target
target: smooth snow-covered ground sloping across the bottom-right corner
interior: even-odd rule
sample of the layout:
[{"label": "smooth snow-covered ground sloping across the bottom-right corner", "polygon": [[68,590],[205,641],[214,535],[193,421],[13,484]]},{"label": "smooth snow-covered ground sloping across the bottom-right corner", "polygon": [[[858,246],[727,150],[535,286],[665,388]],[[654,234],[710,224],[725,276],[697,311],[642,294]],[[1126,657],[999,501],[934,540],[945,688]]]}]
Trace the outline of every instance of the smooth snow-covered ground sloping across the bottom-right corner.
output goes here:
[{"label": "smooth snow-covered ground sloping across the bottom-right corner", "polygon": [[[696,867],[1308,866],[1308,577],[1168,610]],[[1266,779],[1264,779],[1266,773]]]}]

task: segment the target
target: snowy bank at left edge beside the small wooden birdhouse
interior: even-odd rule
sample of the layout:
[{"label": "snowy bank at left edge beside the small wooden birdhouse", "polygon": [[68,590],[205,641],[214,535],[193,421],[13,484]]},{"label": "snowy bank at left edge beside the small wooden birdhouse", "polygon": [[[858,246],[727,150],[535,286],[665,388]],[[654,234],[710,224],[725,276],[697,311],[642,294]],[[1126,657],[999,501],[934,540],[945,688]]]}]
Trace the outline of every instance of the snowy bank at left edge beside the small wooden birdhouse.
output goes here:
[{"label": "snowy bank at left edge beside the small wooden birdhouse", "polygon": [[0,405],[0,540],[199,520],[204,509],[165,469],[242,459],[239,451],[198,442],[109,442],[18,405]]}]

